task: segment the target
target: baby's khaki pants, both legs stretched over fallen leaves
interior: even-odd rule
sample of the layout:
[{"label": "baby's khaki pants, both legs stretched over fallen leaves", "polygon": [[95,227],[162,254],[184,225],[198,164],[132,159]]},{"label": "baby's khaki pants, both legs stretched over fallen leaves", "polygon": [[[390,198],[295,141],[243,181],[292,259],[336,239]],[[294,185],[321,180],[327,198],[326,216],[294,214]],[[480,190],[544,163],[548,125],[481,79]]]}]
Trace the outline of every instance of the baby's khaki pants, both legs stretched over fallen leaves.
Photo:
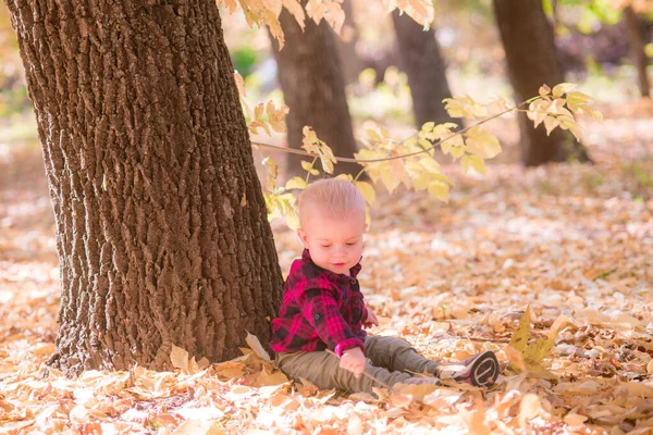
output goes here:
[{"label": "baby's khaki pants, both legs stretched over fallen leaves", "polygon": [[[435,373],[439,365],[401,338],[367,337],[365,347],[365,371],[391,387],[410,378],[410,372]],[[288,377],[295,381],[303,377],[322,389],[372,394],[372,387],[384,387],[365,374],[356,378],[352,372],[340,368],[340,359],[335,355],[325,351],[278,353],[276,363]]]}]

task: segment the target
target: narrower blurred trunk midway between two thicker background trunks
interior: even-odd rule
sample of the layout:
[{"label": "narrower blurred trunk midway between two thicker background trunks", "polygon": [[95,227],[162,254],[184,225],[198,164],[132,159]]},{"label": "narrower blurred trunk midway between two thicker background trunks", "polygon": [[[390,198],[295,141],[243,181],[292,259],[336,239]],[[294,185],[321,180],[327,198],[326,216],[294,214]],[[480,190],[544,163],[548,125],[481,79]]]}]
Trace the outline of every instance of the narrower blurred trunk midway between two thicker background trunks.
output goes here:
[{"label": "narrower blurred trunk midway between two thicker background trunks", "polygon": [[392,21],[399,46],[399,63],[408,75],[417,127],[429,121],[435,124],[452,122],[442,103],[443,99],[452,97],[452,91],[435,32],[432,28],[424,32],[422,26],[407,14],[399,14],[398,10],[393,11]]}]

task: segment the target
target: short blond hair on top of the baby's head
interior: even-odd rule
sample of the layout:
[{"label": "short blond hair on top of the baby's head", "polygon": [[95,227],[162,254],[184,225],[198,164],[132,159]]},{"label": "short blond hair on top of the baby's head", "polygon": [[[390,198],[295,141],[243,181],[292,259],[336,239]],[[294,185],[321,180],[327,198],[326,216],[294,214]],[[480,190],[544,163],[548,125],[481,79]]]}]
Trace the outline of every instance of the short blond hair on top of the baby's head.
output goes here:
[{"label": "short blond hair on top of the baby's head", "polygon": [[299,224],[304,226],[310,213],[324,213],[329,217],[345,217],[360,213],[365,219],[365,199],[360,190],[342,178],[324,178],[309,185],[297,198]]}]

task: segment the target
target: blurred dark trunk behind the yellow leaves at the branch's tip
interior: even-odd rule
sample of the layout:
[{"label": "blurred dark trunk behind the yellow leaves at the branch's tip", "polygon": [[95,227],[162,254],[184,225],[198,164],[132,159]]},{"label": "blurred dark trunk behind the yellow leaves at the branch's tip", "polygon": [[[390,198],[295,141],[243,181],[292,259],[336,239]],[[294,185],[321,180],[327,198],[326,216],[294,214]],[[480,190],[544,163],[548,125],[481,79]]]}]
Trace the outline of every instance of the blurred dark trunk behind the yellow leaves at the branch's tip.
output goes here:
[{"label": "blurred dark trunk behind the yellow leaves at the branch's tip", "polygon": [[[506,52],[508,75],[517,102],[538,95],[543,84],[564,82],[555,47],[553,28],[542,10],[541,0],[493,0],[494,14]],[[546,136],[544,125],[533,128],[525,113],[519,114],[521,161],[527,166],[569,159],[588,161],[574,136],[555,129]]]}]

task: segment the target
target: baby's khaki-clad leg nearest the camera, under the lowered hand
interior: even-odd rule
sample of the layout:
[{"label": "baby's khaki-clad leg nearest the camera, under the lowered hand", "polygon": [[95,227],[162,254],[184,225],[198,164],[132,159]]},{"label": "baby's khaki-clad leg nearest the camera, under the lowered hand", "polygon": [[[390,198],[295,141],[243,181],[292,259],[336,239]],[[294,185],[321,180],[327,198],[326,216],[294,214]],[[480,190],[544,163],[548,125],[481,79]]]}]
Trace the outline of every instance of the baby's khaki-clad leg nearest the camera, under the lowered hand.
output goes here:
[{"label": "baby's khaki-clad leg nearest the camera, under the lowered hand", "polygon": [[372,394],[372,387],[385,388],[397,383],[414,383],[410,374],[374,366],[369,359],[365,371],[380,382],[365,374],[356,378],[352,372],[340,368],[340,358],[325,351],[280,353],[276,363],[288,377],[295,381],[305,378],[322,389]]}]

